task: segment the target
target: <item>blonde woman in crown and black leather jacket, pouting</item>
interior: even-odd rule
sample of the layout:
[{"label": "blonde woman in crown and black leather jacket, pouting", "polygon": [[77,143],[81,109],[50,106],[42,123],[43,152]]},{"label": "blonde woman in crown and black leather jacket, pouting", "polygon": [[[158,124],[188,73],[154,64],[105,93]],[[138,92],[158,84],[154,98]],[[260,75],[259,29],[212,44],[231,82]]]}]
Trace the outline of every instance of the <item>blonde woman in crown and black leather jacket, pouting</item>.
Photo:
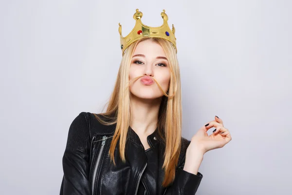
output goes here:
[{"label": "blonde woman in crown and black leather jacket, pouting", "polygon": [[[165,11],[162,16],[167,21]],[[141,18],[136,10],[135,31],[144,25]],[[162,31],[167,27],[164,23]],[[169,33],[149,36],[151,30],[157,28],[149,27],[147,36],[140,31],[139,39],[139,31],[121,36],[123,58],[107,112],[82,112],[73,120],[60,195],[194,195],[204,153],[231,140],[218,117],[190,141],[182,137],[174,27],[168,30],[172,39]],[[124,41],[129,37],[132,42]],[[212,127],[216,129],[208,136]]]}]

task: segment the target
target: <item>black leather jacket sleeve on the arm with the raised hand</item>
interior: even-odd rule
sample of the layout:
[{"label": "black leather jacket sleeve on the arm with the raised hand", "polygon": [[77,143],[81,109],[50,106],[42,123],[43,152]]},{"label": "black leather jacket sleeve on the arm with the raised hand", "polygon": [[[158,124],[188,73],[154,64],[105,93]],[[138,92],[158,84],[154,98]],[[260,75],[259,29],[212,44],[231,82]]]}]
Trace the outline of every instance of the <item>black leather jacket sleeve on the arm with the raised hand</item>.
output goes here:
[{"label": "black leather jacket sleeve on the arm with the raised hand", "polygon": [[[187,141],[189,145],[190,141],[184,139],[183,141]],[[186,147],[187,147],[186,146]],[[201,183],[202,174],[198,172],[197,175],[189,173],[183,170],[184,162],[185,162],[185,150],[186,147],[183,148],[182,160],[180,161],[173,183],[167,187],[164,195],[195,195],[199,185]]]}]

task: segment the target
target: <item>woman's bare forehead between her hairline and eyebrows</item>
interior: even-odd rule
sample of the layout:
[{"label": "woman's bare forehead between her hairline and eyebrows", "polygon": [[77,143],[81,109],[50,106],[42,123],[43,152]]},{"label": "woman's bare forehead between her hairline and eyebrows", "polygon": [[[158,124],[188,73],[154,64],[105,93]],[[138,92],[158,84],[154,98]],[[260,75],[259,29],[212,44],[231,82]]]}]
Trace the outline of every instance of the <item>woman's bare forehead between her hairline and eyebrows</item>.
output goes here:
[{"label": "woman's bare forehead between her hairline and eyebrows", "polygon": [[144,54],[147,56],[163,56],[165,57],[165,52],[159,43],[151,40],[143,40],[139,42],[135,48],[133,55]]}]

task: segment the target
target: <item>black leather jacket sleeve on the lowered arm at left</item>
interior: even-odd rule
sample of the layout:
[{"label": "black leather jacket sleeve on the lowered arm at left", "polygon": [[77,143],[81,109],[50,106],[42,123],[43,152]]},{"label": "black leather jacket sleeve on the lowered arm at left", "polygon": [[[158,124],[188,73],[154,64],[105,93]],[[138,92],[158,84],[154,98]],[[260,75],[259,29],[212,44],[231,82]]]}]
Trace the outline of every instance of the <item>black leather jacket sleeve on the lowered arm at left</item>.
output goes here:
[{"label": "black leather jacket sleeve on the lowered arm at left", "polygon": [[62,159],[64,176],[60,195],[91,195],[89,182],[89,126],[87,113],[80,113],[69,128]]}]

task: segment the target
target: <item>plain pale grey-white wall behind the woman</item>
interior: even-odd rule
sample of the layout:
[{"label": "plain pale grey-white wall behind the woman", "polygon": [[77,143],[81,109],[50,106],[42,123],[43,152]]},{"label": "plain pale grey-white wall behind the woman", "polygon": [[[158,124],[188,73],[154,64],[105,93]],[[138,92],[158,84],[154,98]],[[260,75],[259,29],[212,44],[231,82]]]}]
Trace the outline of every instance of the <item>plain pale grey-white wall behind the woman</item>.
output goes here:
[{"label": "plain pale grey-white wall behind the woman", "polygon": [[291,195],[291,0],[1,0],[0,194],[59,193],[69,126],[109,98],[136,8],[176,27],[183,136],[217,115],[233,137],[197,194]]}]

